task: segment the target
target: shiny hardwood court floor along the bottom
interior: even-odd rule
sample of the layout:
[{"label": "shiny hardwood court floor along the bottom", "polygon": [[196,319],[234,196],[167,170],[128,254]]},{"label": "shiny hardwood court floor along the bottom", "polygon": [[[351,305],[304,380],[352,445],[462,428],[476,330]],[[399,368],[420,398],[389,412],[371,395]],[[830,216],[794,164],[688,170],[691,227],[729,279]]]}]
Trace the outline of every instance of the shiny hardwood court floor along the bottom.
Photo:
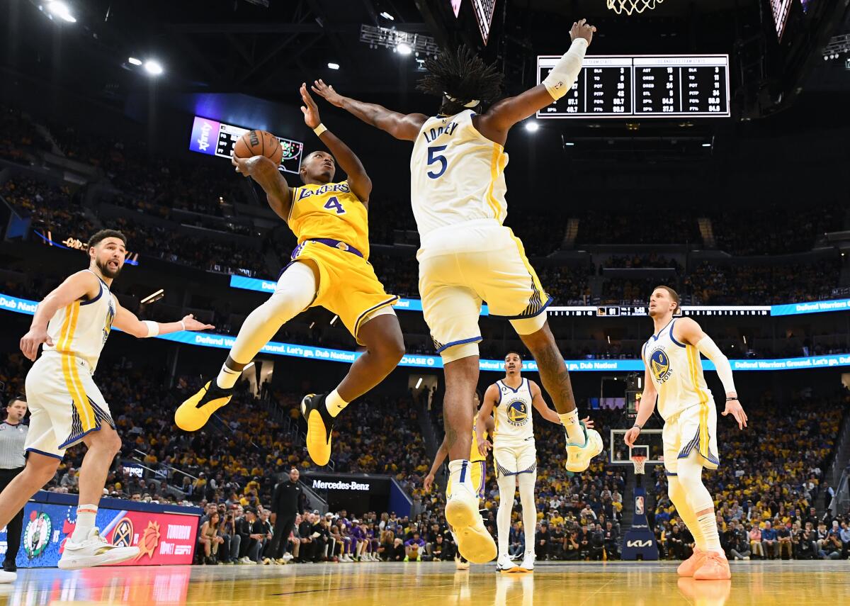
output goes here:
[{"label": "shiny hardwood court floor along the bottom", "polygon": [[21,569],[0,606],[824,606],[850,603],[850,562],[742,562],[731,581],[679,579],[675,563],[538,563],[533,575],[453,563]]}]

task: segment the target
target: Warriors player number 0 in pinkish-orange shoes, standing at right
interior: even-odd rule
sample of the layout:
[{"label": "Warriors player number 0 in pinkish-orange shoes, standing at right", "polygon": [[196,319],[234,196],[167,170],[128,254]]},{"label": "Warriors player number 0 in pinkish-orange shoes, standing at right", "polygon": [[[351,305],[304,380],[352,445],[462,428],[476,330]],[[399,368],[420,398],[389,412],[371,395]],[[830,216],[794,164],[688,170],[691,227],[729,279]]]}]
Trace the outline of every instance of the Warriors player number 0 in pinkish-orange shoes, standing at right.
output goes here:
[{"label": "Warriors player number 0 in pinkish-orange shoes, standing at right", "polygon": [[626,432],[632,447],[641,428],[649,420],[658,400],[664,419],[664,469],[667,489],[676,511],[694,535],[694,555],[678,568],[681,576],[697,580],[723,580],[731,577],[729,563],[714,515],[714,500],[702,483],[702,469],[717,469],[717,410],[706,378],[700,353],[714,363],[726,392],[723,416],[732,414],[740,429],[746,414],[738,401],[732,367],[711,337],[689,317],[674,318],[679,295],[668,286],[657,287],[649,298],[649,317],[655,334],[643,344],[641,357],[646,366],[643,394],[635,425]]}]

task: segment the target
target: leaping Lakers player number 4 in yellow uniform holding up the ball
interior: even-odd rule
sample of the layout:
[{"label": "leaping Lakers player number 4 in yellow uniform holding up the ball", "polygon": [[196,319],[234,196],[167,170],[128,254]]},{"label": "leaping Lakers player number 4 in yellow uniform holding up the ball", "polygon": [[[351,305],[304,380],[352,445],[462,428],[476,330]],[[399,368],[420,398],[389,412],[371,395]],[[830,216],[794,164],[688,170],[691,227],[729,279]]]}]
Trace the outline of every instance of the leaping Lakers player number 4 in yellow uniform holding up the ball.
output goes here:
[{"label": "leaping Lakers player number 4 in yellow uniform holding up the ball", "polygon": [[[302,84],[304,122],[331,153],[313,152],[301,164],[303,185],[291,187],[269,158],[234,157],[236,171],[266,192],[269,206],[298,239],[292,261],[275,293],[246,318],[218,377],[180,405],[177,425],[194,432],[227,404],[242,369],[280,327],[311,306],[337,314],[365,351],[330,393],[309,394],[301,403],[307,449],[316,465],[331,458],[333,419],[349,402],[380,383],[399,363],[405,344],[393,305],[369,264],[368,209],[371,180],[360,159],[325,128],[319,108]],[[337,161],[348,178],[334,181]]]}]

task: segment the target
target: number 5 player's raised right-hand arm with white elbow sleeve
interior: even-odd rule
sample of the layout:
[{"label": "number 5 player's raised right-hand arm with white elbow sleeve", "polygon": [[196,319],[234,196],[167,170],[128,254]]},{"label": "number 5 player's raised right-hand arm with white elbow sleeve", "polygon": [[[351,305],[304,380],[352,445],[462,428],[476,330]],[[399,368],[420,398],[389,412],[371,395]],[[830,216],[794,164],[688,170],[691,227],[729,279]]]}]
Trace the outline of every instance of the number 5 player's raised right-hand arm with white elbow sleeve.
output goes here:
[{"label": "number 5 player's raised right-hand arm with white elbow sleeve", "polygon": [[481,134],[490,140],[504,145],[507,140],[507,131],[511,127],[533,116],[546,106],[552,105],[567,94],[575,84],[575,78],[581,71],[581,61],[584,60],[587,45],[591,43],[595,26],[587,24],[586,19],[574,23],[570,29],[572,45],[552,72],[541,84],[533,89],[526,90],[523,94],[508,97],[490,107],[483,116],[476,121],[476,128]]}]

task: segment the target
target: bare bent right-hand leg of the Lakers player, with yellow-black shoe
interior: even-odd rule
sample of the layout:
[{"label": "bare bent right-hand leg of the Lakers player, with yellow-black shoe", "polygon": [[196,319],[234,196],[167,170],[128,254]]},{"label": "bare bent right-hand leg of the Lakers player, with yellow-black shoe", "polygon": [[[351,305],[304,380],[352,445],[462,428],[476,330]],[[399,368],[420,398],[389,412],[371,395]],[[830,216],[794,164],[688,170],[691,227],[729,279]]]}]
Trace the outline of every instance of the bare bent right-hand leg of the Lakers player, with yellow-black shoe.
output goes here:
[{"label": "bare bent right-hand leg of the Lakers player, with yellow-black shoe", "polygon": [[392,307],[383,307],[361,324],[357,339],[365,345],[365,352],[354,361],[337,389],[308,394],[301,402],[307,421],[307,452],[319,466],[331,460],[331,432],[337,414],[384,380],[405,355],[405,340]]}]

